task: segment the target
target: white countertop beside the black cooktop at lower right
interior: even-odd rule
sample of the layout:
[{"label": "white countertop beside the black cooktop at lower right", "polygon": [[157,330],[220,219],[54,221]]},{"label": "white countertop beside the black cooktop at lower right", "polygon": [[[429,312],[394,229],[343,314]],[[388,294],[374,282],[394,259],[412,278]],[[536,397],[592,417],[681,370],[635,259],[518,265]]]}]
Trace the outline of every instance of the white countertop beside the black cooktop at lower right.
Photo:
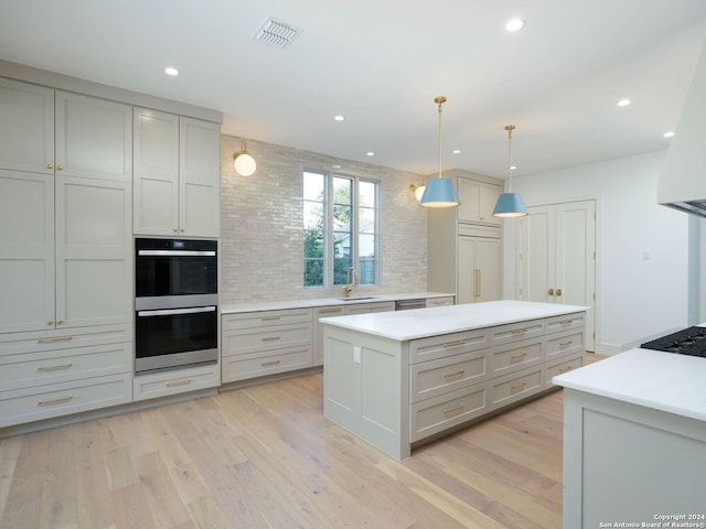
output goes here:
[{"label": "white countertop beside the black cooktop at lower right", "polygon": [[706,358],[635,348],[552,380],[565,388],[706,421]]}]

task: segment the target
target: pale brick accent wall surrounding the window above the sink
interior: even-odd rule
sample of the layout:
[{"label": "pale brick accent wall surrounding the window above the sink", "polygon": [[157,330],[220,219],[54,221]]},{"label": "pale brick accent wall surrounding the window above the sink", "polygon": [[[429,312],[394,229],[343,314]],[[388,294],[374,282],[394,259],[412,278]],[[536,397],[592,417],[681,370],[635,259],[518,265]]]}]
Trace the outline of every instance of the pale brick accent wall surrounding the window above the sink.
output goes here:
[{"label": "pale brick accent wall surrounding the window above the sink", "polygon": [[342,290],[303,283],[302,172],[334,171],[381,183],[379,280],[354,295],[427,290],[427,212],[405,171],[247,140],[252,176],[233,169],[240,138],[221,136],[221,303],[338,298]]}]

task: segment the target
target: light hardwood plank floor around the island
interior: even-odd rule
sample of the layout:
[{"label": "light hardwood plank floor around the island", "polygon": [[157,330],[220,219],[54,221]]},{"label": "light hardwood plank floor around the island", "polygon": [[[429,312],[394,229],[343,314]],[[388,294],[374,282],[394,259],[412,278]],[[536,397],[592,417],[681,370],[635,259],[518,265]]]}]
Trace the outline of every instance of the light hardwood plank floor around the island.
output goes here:
[{"label": "light hardwood plank floor around the island", "polygon": [[559,390],[397,462],[309,375],[1,439],[0,528],[560,528],[561,419]]}]

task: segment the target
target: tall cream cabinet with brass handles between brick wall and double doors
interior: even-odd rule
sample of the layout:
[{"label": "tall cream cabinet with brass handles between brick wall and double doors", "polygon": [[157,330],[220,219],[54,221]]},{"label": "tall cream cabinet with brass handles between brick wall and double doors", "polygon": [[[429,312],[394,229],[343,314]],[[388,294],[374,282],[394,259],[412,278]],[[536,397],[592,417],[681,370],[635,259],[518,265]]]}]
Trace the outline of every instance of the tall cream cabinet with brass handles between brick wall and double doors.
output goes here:
[{"label": "tall cream cabinet with brass handles between brick wall and double doors", "polygon": [[503,183],[461,170],[445,176],[456,182],[461,205],[428,212],[427,289],[453,292],[457,303],[500,300],[502,224],[492,212]]}]

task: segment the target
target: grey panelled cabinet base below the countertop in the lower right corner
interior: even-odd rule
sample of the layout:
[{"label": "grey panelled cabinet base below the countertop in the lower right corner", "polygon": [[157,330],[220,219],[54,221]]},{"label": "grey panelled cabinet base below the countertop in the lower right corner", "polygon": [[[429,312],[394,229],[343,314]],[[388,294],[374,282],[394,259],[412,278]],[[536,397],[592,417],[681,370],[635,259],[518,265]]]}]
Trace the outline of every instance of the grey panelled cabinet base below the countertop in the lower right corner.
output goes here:
[{"label": "grey panelled cabinet base below the countertop in the lower right corner", "polygon": [[564,527],[704,527],[704,454],[702,420],[565,388]]}]

